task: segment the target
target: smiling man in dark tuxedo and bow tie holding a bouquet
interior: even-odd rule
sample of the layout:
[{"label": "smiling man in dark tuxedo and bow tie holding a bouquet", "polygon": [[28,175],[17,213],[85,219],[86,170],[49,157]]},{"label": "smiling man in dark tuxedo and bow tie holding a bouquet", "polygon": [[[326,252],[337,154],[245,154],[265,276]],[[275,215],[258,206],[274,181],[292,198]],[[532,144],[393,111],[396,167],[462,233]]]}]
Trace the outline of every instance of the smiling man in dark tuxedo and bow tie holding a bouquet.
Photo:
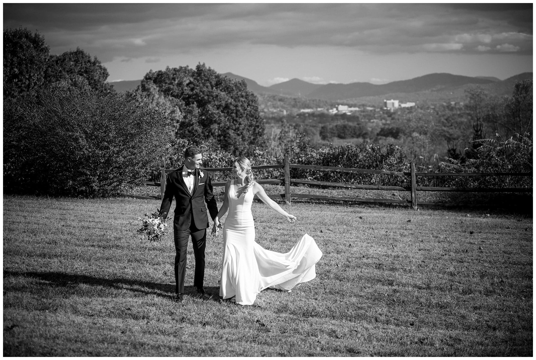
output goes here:
[{"label": "smiling man in dark tuxedo and bow tie holding a bouquet", "polygon": [[[188,146],[184,151],[184,165],[166,177],[166,191],[160,206],[160,215],[166,218],[175,196],[176,207],[173,218],[175,241],[175,301],[181,302],[184,294],[184,273],[186,270],[186,251],[191,237],[196,269],[193,286],[204,298],[209,298],[203,288],[205,277],[206,228],[209,218],[218,215],[218,206],[212,194],[209,173],[201,168],[203,156],[197,146]],[[206,206],[204,202],[206,203]]]}]

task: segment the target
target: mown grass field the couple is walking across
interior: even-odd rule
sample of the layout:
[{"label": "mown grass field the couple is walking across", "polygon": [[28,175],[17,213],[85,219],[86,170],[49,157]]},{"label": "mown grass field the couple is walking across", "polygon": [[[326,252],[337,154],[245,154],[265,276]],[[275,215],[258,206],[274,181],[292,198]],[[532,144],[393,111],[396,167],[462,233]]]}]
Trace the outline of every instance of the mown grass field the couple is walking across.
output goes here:
[{"label": "mown grass field the couple is walking across", "polygon": [[254,203],[260,245],[286,252],[307,232],[324,255],[311,282],[240,306],[217,301],[221,235],[214,300],[192,291],[190,245],[171,301],[171,234],[135,232],[158,206],[5,195],[3,355],[532,356],[532,214],[296,203],[288,224]]}]

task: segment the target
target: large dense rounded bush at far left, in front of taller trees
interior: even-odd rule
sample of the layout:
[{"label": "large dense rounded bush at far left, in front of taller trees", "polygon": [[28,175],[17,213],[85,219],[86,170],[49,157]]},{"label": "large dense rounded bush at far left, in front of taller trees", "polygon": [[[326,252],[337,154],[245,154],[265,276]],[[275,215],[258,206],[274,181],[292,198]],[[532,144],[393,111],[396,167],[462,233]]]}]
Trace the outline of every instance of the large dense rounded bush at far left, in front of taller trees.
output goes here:
[{"label": "large dense rounded bush at far left, in front of taller trees", "polygon": [[110,196],[169,151],[169,117],[131,95],[48,89],[4,102],[4,191]]}]

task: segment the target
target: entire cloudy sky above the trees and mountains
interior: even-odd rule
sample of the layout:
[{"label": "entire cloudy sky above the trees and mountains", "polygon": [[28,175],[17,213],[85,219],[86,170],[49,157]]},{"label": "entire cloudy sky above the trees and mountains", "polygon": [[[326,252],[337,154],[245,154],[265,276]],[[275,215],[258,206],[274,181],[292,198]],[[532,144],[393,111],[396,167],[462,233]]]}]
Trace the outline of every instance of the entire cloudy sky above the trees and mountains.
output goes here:
[{"label": "entire cloudy sky above the trees and mountains", "polygon": [[51,54],[77,47],[108,81],[205,63],[270,86],[383,84],[434,72],[532,72],[532,3],[4,3],[4,30],[38,30]]}]

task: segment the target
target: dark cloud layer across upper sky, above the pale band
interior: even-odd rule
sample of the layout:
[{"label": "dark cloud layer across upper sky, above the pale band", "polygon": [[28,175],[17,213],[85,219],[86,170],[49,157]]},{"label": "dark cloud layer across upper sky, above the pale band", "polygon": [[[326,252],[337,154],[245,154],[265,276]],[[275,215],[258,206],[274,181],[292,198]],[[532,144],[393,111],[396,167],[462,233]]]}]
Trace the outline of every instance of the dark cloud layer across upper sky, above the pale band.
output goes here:
[{"label": "dark cloud layer across upper sky, above the pale band", "polygon": [[103,62],[248,44],[532,55],[532,4],[4,4],[19,25]]}]

